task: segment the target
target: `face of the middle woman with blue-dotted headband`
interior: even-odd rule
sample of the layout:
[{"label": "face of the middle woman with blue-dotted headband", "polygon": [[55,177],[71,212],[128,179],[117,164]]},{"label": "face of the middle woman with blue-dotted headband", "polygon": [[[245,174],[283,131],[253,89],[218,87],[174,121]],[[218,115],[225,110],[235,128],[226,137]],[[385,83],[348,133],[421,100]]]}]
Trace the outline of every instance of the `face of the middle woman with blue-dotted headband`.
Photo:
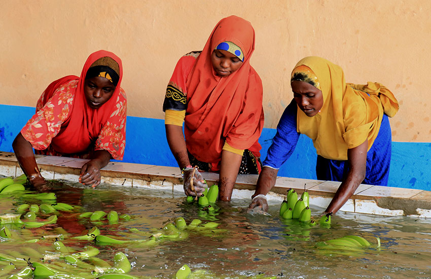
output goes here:
[{"label": "face of the middle woman with blue-dotted headband", "polygon": [[212,67],[219,76],[228,76],[242,65],[242,61],[225,50],[214,50],[211,54]]}]

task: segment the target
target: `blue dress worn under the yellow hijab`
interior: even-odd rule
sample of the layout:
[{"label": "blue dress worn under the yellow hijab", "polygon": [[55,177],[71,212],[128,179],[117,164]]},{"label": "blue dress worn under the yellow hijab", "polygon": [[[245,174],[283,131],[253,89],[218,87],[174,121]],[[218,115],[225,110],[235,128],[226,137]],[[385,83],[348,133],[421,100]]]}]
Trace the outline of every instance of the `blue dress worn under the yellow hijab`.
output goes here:
[{"label": "blue dress worn under the yellow hijab", "polygon": [[[289,104],[281,115],[277,133],[272,139],[264,167],[279,169],[295,150],[299,133],[297,132],[297,109],[295,100]],[[383,115],[379,133],[367,152],[367,171],[362,183],[387,186],[389,176],[392,135],[389,119]],[[316,175],[318,180],[343,181],[348,173],[348,162],[331,160],[317,155]]]}]

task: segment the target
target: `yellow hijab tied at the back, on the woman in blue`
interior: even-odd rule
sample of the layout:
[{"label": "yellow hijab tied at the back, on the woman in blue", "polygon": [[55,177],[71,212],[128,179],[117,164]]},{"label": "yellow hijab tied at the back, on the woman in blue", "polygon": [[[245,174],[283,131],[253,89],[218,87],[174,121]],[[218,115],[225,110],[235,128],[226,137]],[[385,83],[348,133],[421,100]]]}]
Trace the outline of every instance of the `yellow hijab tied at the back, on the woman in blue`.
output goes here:
[{"label": "yellow hijab tied at the back, on the woman in blue", "polygon": [[347,160],[347,149],[361,145],[366,139],[369,150],[379,132],[383,113],[392,117],[398,111],[398,101],[392,92],[379,83],[346,84],[340,66],[316,56],[299,61],[292,77],[307,68],[304,66],[315,74],[324,104],[312,117],[298,107],[297,131],[310,137],[317,154],[328,159]]}]

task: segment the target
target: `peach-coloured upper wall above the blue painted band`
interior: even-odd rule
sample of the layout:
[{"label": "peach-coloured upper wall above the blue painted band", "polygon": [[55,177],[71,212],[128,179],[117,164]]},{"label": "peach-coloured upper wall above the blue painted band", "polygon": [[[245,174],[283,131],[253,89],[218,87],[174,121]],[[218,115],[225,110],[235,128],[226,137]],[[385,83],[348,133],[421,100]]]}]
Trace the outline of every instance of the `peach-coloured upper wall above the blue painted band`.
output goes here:
[{"label": "peach-coloured upper wall above the blue painted band", "polygon": [[430,142],[429,0],[112,1],[0,0],[0,103],[35,106],[46,86],[79,75],[98,49],[123,60],[128,115],[163,118],[168,79],[183,54],[200,50],[213,26],[236,14],[252,22],[252,65],[264,84],[265,127],[289,104],[290,73],[317,55],[346,80],[378,81],[401,109],[394,141]]}]

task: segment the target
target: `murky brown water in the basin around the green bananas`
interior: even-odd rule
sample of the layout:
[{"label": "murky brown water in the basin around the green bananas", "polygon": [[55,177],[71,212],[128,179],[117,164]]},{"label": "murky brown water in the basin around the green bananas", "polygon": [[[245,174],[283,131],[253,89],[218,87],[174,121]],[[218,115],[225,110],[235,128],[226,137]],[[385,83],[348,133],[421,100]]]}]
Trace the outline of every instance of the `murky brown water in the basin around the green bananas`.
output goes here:
[{"label": "murky brown water in the basin around the green bananas", "polygon": [[[16,228],[14,233],[25,240],[62,232],[66,235],[62,240],[66,246],[82,249],[95,245],[100,250],[97,257],[106,261],[112,261],[115,252],[124,252],[132,263],[131,275],[172,278],[178,268],[188,264],[192,270],[206,269],[226,278],[263,272],[279,278],[431,278],[431,221],[426,219],[340,212],[333,217],[330,228],[318,225],[310,228],[280,220],[278,204],[270,206],[271,216],[245,214],[249,202],[246,200],[218,204],[220,210],[207,215],[198,210],[197,204],[188,204],[180,192],[110,185],[91,190],[62,182],[54,185],[53,192],[57,194],[57,202],[80,205],[82,212],[115,210],[133,218],[109,225],[77,219],[73,213],[60,213],[56,224],[29,230]],[[0,213],[16,213],[16,206],[23,202],[19,197],[0,198]],[[321,211],[312,208],[312,215]],[[184,217],[187,223],[195,218],[203,223],[215,221],[223,230],[212,233],[191,230],[183,240],[163,241],[154,247],[97,246],[70,238],[96,225],[101,234],[145,239],[176,217]],[[130,232],[130,228],[148,233],[139,236]],[[29,236],[28,231],[33,235]],[[316,247],[317,242],[349,234],[362,235],[371,244],[377,243],[374,238],[377,236],[381,248],[334,252]],[[40,251],[45,245],[49,250],[51,244],[52,241],[32,244],[4,241],[0,245],[6,253],[20,252],[24,246]]]}]

